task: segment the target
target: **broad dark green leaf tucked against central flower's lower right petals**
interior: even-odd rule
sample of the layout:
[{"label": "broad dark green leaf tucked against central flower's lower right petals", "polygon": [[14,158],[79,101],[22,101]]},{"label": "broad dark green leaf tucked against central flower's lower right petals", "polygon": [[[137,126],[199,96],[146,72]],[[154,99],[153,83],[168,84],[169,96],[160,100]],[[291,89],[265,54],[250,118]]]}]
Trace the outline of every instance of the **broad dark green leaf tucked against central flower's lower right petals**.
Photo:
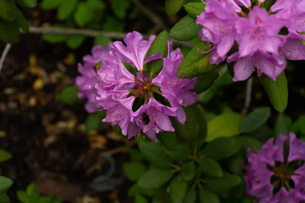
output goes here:
[{"label": "broad dark green leaf tucked against central flower's lower right petals", "polygon": [[193,104],[185,109],[187,120],[185,124],[174,120],[175,132],[177,136],[186,141],[206,137],[206,123],[203,112],[197,104]]}]

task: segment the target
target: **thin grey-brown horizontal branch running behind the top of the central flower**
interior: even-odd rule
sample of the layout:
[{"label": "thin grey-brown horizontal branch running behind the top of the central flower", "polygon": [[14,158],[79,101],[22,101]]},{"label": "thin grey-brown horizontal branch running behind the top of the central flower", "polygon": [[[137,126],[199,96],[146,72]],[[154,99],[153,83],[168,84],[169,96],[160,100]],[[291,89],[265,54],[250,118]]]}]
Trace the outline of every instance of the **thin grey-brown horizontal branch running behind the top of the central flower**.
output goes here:
[{"label": "thin grey-brown horizontal branch running behind the top of the central flower", "polygon": [[[105,35],[112,39],[122,40],[126,37],[126,32],[106,32],[90,29],[75,29],[75,28],[59,28],[59,27],[29,27],[30,33],[40,33],[40,34],[52,34],[52,35],[81,35],[87,37],[96,37],[98,35]],[[21,30],[21,33],[25,33]],[[149,35],[143,35],[144,39],[148,39]],[[189,42],[180,42],[172,40],[177,46],[184,46],[188,48],[193,48],[194,45]]]}]

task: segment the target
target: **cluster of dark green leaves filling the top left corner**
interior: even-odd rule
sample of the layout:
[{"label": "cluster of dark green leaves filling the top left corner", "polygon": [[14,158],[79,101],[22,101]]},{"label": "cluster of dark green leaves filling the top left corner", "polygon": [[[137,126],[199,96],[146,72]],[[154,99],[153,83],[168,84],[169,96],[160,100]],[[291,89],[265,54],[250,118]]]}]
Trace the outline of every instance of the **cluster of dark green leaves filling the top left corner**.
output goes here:
[{"label": "cluster of dark green leaves filling the top left corner", "polygon": [[19,6],[33,8],[37,0],[2,0],[0,1],[0,40],[6,43],[17,43],[20,28],[28,32],[28,24],[18,9]]}]

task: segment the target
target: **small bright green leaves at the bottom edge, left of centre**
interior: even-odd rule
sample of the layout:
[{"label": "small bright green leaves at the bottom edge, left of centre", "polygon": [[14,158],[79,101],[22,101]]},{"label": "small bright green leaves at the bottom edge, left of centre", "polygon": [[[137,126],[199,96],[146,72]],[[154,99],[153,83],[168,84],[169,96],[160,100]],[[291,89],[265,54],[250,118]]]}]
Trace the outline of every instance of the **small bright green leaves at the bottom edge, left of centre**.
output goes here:
[{"label": "small bright green leaves at the bottom edge, left of centre", "polygon": [[51,196],[41,196],[38,190],[35,188],[34,184],[29,184],[25,191],[18,190],[17,197],[22,203],[62,203],[63,201],[58,198],[53,198]]}]

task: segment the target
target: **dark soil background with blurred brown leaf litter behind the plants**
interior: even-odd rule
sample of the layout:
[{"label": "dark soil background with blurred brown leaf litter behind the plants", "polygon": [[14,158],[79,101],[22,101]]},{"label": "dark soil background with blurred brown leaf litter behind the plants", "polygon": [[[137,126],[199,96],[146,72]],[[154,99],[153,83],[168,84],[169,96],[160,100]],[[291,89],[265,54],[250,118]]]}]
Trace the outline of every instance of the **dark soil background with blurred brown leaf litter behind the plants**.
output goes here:
[{"label": "dark soil background with blurred brown leaf litter behind the plants", "polygon": [[[163,1],[141,1],[162,17],[171,27],[180,17],[166,17]],[[23,10],[30,24],[41,26],[44,22],[56,22],[55,11],[40,8]],[[136,21],[135,26],[133,21]],[[157,34],[145,15],[126,21],[126,31],[138,30]],[[159,30],[160,31],[160,30]],[[64,105],[58,93],[73,84],[78,75],[77,63],[90,53],[93,39],[71,50],[64,43],[50,44],[40,35],[22,34],[20,42],[12,46],[0,75],[0,148],[9,151],[12,159],[0,164],[0,175],[14,181],[8,194],[12,202],[18,202],[16,191],[24,190],[29,183],[36,183],[43,193],[65,199],[66,202],[132,202],[127,197],[130,183],[124,178],[122,165],[129,161],[126,153],[130,141],[121,138],[106,123],[90,133],[84,130],[87,113],[82,105]],[[0,42],[3,51],[5,44]],[[304,63],[291,62],[286,76],[289,85],[289,103],[285,114],[297,119],[305,114]],[[217,104],[226,100],[234,111],[243,108],[243,99],[236,95],[245,92],[246,82],[222,88],[224,96],[215,98],[205,108],[218,111]],[[258,80],[254,79],[250,111],[256,107],[270,106]],[[218,99],[218,100],[216,100]],[[272,110],[274,126],[279,116]],[[111,179],[114,187],[97,192],[89,184],[109,171],[110,164],[99,158],[112,155],[115,172]],[[104,160],[104,161],[103,161]]]}]

